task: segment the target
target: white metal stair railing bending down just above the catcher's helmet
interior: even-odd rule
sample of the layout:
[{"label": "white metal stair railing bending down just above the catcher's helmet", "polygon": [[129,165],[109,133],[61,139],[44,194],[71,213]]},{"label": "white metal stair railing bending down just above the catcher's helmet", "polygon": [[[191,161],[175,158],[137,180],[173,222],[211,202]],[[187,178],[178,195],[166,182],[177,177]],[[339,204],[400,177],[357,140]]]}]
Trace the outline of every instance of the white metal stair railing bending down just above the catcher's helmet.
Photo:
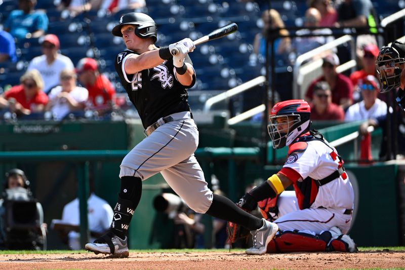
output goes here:
[{"label": "white metal stair railing bending down just above the catcher's helmet", "polygon": [[[355,44],[354,44],[354,38],[351,35],[344,35],[341,36],[339,38],[336,38],[336,40],[333,40],[325,45],[322,45],[314,50],[311,50],[307,53],[304,53],[300,56],[297,57],[296,62],[294,64],[294,69],[293,69],[293,97],[295,99],[300,99],[301,98],[301,89],[299,89],[299,80],[301,80],[302,83],[302,76],[300,76],[300,66],[301,64],[306,61],[311,59],[312,57],[319,55],[322,52],[331,50],[336,48],[337,46],[341,45],[341,44],[345,44],[349,42],[351,48],[355,48]],[[355,59],[355,49],[351,50],[351,58]],[[354,60],[353,60],[354,61]],[[355,61],[354,61],[355,62]],[[355,64],[353,65],[353,62],[349,62],[346,63],[344,68],[347,67],[352,67],[355,66]],[[340,69],[340,72],[342,71],[342,68]]]}]

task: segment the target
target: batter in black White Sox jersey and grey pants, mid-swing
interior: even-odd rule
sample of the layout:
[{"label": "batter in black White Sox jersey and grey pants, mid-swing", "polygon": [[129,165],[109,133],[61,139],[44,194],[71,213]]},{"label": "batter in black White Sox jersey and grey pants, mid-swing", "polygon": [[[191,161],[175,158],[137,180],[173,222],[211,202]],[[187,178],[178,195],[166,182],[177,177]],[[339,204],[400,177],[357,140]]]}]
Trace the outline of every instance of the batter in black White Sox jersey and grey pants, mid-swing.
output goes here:
[{"label": "batter in black White Sox jersey and grey pants, mid-swing", "polygon": [[[156,25],[143,13],[122,16],[112,34],[123,37],[128,50],[115,58],[115,70],[134,104],[147,136],[120,165],[121,187],[109,232],[86,249],[94,253],[128,257],[127,231],[142,193],[142,181],[161,173],[186,204],[251,230],[254,246],[248,254],[264,254],[278,230],[276,224],[238,208],[229,199],[213,195],[194,157],[198,130],[187,101],[187,89],[195,83],[188,56],[195,48],[189,38],[157,48]],[[179,53],[171,55],[176,48]]]}]

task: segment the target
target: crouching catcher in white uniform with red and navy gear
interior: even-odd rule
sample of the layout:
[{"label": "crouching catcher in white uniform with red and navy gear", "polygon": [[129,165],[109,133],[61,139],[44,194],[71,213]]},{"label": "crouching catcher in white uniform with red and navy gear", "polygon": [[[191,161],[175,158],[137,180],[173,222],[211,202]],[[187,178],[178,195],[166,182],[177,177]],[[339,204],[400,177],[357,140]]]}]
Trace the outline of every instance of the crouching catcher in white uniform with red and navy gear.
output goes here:
[{"label": "crouching catcher in white uniform with red and navy gear", "polygon": [[[310,115],[304,100],[274,105],[268,132],[274,148],[289,147],[287,161],[237,204],[249,212],[259,203],[265,219],[276,218],[272,222],[280,231],[267,252],[354,252],[356,245],[345,235],[352,219],[353,188],[336,149],[310,129]],[[290,185],[295,192],[284,191]]]}]

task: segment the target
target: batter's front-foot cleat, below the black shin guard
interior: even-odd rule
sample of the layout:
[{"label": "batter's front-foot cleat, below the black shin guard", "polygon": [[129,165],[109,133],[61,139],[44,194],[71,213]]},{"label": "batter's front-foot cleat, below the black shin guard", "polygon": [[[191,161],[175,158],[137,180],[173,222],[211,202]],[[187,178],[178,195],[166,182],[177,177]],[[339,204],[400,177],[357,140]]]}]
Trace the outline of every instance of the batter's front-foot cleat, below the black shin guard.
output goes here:
[{"label": "batter's front-foot cleat, below the black shin guard", "polygon": [[120,239],[111,232],[96,239],[94,243],[87,243],[86,250],[95,254],[109,254],[112,258],[128,258],[130,253],[127,245],[128,238]]}]

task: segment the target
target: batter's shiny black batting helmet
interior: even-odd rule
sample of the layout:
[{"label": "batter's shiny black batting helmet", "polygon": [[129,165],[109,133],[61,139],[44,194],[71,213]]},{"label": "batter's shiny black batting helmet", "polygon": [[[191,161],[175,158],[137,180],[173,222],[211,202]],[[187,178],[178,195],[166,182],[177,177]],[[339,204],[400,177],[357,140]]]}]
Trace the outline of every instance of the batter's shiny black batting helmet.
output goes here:
[{"label": "batter's shiny black batting helmet", "polygon": [[135,34],[140,38],[153,37],[153,42],[157,40],[157,27],[155,21],[144,13],[130,12],[124,14],[119,19],[119,24],[112,28],[112,34],[115,36],[123,36],[121,33],[121,27],[126,24],[134,24],[138,27],[135,30]]}]

